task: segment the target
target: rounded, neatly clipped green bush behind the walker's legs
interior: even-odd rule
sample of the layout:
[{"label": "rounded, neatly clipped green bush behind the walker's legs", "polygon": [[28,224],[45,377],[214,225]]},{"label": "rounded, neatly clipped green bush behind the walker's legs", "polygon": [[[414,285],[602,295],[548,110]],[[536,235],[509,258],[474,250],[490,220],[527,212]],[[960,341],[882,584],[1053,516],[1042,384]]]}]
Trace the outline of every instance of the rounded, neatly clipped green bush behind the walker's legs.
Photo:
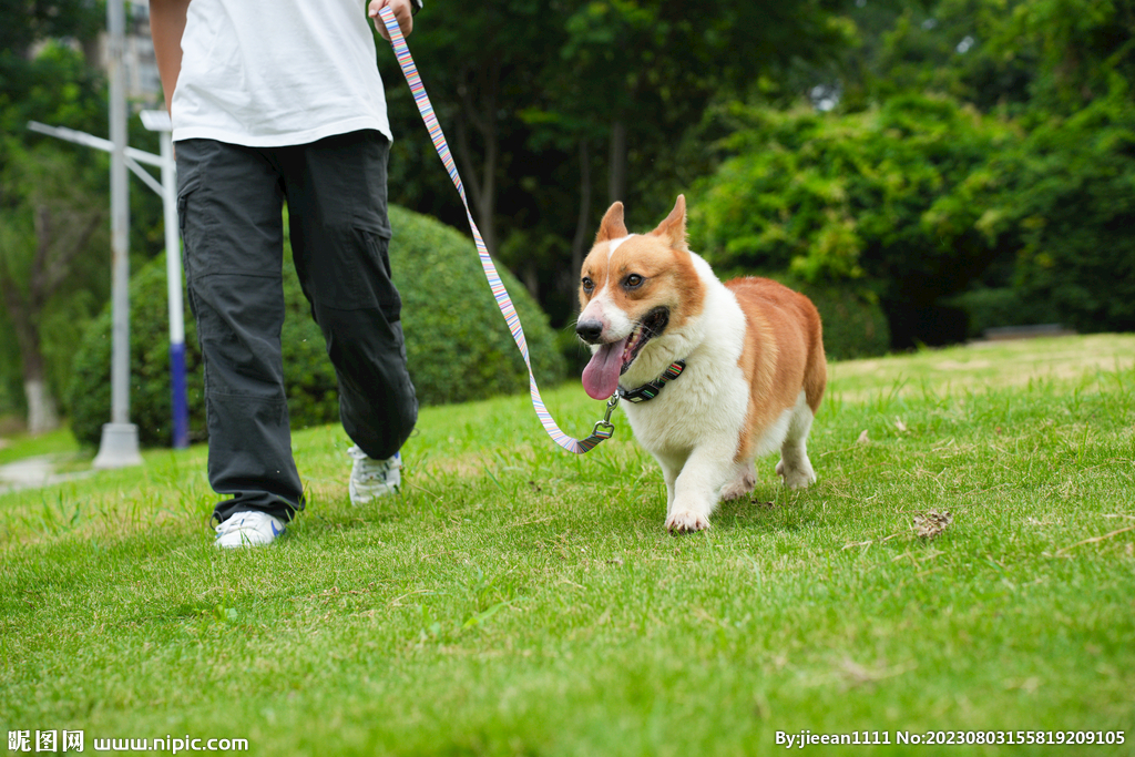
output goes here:
[{"label": "rounded, neatly clipped green bush behind the walker's legs", "polygon": [[[464,402],[518,392],[528,372],[485,283],[472,243],[456,230],[390,208],[390,264],[402,294],[410,373],[423,404]],[[287,224],[284,226],[287,229]],[[311,319],[285,239],[284,372],[293,428],[338,420],[335,372]],[[507,272],[502,277],[524,325],[541,382],[563,377],[563,358],[547,318]],[[201,354],[186,309],[191,437],[205,438]],[[98,444],[110,419],[110,311],[94,320],[75,355],[69,389],[72,430]],[[166,261],[160,256],[131,280],[131,420],[144,445],[170,440],[169,331]]]}]

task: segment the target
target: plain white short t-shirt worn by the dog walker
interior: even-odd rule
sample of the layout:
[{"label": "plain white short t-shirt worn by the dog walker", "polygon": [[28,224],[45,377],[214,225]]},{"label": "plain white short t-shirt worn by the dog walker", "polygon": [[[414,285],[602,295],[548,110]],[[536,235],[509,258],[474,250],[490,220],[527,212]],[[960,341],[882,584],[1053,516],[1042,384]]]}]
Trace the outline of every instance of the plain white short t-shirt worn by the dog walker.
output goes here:
[{"label": "plain white short t-shirt worn by the dog walker", "polygon": [[253,148],[378,129],[392,138],[360,0],[192,0],[174,140]]}]

